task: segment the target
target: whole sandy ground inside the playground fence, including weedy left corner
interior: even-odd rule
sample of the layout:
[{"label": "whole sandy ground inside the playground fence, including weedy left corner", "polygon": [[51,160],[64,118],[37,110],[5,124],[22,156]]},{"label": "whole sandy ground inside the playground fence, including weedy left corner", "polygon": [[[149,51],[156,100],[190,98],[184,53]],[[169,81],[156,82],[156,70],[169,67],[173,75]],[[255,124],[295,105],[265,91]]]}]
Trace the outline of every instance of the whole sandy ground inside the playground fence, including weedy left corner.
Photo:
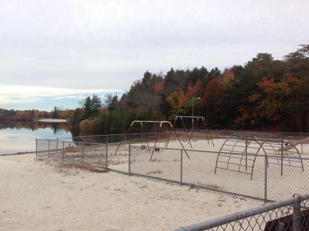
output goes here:
[{"label": "whole sandy ground inside the playground fence, including weedy left corner", "polygon": [[[214,146],[211,141],[198,140],[192,142],[193,150],[190,144],[181,142],[186,151],[183,151],[182,163],[182,182],[188,185],[195,185],[203,188],[220,190],[223,192],[235,193],[239,195],[251,196],[253,198],[265,198],[265,158],[264,151],[260,149],[261,156],[247,156],[248,166],[245,169],[245,155],[237,155],[229,158],[220,157],[220,160],[229,161],[229,170],[226,170],[227,163],[218,162],[218,167],[215,173],[218,151],[220,150],[225,139],[214,139]],[[153,146],[154,143],[148,143]],[[136,144],[136,147],[131,147],[136,152],[136,159],[133,159],[131,153],[130,173],[149,176],[158,179],[180,182],[181,168],[181,152],[180,150],[164,149],[164,142],[157,144],[160,147],[159,152],[153,152],[153,148],[147,147],[142,149],[139,147],[141,143]],[[129,145],[120,146],[116,152],[117,145],[108,145],[108,168],[128,173],[129,171]],[[298,145],[300,146],[300,145]],[[233,148],[232,146],[230,146]],[[257,143],[251,143],[248,152],[256,152],[259,147]],[[67,147],[68,148],[68,147]],[[58,160],[71,161],[74,163],[92,166],[105,167],[105,145],[85,146],[83,154],[81,147],[65,148],[65,153],[51,150],[50,158]],[[171,140],[168,148],[181,148],[179,141]],[[300,147],[297,147],[300,149]],[[234,151],[243,152],[244,147],[235,147]],[[194,150],[207,150],[199,152]],[[116,152],[116,155],[114,155]],[[152,155],[150,161],[150,157]],[[275,152],[274,152],[275,153]],[[302,157],[308,157],[309,145],[303,144]],[[287,153],[295,156],[295,153]],[[48,153],[40,152],[38,155],[48,156]],[[187,156],[188,155],[188,156]],[[238,157],[238,158],[237,158]],[[239,159],[242,158],[241,171],[239,172]],[[267,158],[269,166],[267,168],[267,199],[276,201],[283,198],[288,198],[294,193],[307,193],[309,185],[309,160],[283,159],[282,176],[281,176],[281,158],[277,156],[274,159]],[[254,166],[252,168],[252,165]],[[223,168],[223,169],[222,169]],[[231,171],[233,169],[234,171]],[[252,172],[253,169],[253,172]],[[251,179],[252,173],[252,179]]]}]

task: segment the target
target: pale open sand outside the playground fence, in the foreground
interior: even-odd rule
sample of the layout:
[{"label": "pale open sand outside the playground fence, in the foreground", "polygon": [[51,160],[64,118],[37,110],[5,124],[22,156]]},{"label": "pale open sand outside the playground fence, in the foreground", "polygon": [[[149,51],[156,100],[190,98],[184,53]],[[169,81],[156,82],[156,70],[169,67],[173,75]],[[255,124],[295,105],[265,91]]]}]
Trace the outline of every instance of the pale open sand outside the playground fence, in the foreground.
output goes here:
[{"label": "pale open sand outside the playground fence, in the foreground", "polygon": [[0,156],[0,230],[171,230],[262,204],[36,159]]}]

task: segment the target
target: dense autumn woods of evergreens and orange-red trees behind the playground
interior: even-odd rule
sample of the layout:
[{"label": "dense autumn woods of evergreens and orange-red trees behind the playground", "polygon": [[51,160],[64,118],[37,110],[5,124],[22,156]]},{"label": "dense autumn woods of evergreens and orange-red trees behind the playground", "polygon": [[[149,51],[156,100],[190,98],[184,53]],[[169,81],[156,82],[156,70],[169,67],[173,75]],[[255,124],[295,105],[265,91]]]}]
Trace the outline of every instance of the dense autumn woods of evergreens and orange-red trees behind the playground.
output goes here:
[{"label": "dense autumn woods of evergreens and orange-red trees behind the playground", "polygon": [[210,129],[308,132],[308,86],[309,45],[299,45],[282,60],[258,53],[222,72],[205,66],[146,71],[120,99],[106,95],[101,109],[95,94],[87,97],[71,121],[87,134],[124,133],[133,120],[192,115],[192,98],[200,97],[194,115],[204,116]]}]

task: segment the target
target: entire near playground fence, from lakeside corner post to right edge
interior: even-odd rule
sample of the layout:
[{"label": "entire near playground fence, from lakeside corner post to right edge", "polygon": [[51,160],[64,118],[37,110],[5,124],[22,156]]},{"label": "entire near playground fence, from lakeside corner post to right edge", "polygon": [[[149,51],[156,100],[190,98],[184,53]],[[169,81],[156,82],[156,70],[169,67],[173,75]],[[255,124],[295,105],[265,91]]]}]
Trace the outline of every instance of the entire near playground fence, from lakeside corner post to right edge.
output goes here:
[{"label": "entire near playground fence, from lakeside corner post to right edge", "polygon": [[[221,152],[220,160],[230,160],[220,162],[218,152],[132,145],[128,150],[127,147],[121,147],[115,155],[117,147],[108,144],[37,139],[36,155],[265,202],[286,198],[295,191],[308,192],[309,158],[285,156],[281,160],[281,156],[247,154],[246,160],[254,165],[239,165],[238,159],[244,158],[239,153],[222,155]],[[289,164],[273,165],[269,164],[270,160]],[[299,168],[300,162],[303,168]]]}]

